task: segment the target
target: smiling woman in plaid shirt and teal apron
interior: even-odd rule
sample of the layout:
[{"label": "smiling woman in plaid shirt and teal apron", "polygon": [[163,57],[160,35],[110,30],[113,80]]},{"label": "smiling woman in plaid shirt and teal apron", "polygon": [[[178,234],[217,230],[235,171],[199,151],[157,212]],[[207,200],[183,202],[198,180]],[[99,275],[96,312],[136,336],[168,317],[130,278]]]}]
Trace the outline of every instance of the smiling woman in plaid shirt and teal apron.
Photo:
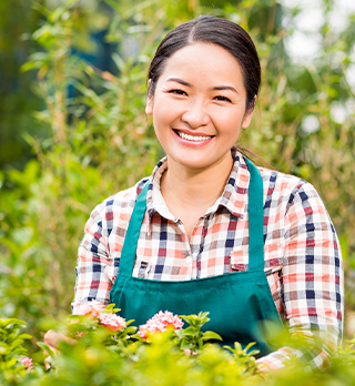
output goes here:
[{"label": "smiling woman in plaid shirt and teal apron", "polygon": [[[292,349],[271,352],[263,321],[338,344],[341,250],[321,199],[305,181],[255,167],[235,148],[260,81],[255,47],[231,21],[200,17],[163,39],[145,112],[166,158],[92,212],[74,313],[91,299],[115,303],[136,324],[160,309],[209,311],[209,329],[225,344],[257,342],[268,368],[282,367]],[[304,355],[316,366],[325,359],[322,349]]]}]

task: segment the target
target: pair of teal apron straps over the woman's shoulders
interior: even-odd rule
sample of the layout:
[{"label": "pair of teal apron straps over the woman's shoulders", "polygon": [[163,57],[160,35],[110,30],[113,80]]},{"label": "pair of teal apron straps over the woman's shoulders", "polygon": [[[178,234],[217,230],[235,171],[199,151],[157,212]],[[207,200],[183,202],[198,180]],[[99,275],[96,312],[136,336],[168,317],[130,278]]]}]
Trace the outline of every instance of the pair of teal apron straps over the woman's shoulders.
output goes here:
[{"label": "pair of teal apron straps over the woman's shoulders", "polygon": [[[254,164],[244,158],[251,174],[248,185],[248,270],[264,270],[263,179]],[[119,276],[131,277],[138,240],[146,210],[149,181],[138,196],[121,252]]]}]

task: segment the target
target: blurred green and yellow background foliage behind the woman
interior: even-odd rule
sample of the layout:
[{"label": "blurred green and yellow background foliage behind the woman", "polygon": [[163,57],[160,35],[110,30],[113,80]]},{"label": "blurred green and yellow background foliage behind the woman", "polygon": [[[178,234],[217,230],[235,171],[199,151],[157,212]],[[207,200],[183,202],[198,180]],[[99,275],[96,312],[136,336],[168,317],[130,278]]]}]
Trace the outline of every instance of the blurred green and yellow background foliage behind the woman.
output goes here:
[{"label": "blurred green and yellow background foliage behind the woman", "polygon": [[0,315],[41,337],[43,321],[70,312],[91,210],[163,155],[144,114],[150,59],[169,30],[207,13],[255,41],[263,83],[240,144],[318,190],[342,243],[353,334],[355,14],[335,28],[337,7],[320,0],[318,51],[300,60],[286,44],[302,7],[285,1],[2,0]]}]

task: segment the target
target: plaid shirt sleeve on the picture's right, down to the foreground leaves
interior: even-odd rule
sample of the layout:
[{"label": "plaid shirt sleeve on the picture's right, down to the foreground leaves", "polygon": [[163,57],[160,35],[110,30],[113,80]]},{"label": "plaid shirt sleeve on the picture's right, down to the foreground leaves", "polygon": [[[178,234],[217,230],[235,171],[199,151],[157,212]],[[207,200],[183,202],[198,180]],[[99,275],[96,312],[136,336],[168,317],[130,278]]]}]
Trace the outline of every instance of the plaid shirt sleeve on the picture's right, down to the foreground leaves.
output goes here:
[{"label": "plaid shirt sleeve on the picture's right, down to the foreground leaves", "polygon": [[292,335],[314,344],[283,347],[257,362],[281,368],[291,356],[322,367],[341,344],[344,272],[338,238],[315,189],[300,183],[290,195],[285,215],[281,297]]}]

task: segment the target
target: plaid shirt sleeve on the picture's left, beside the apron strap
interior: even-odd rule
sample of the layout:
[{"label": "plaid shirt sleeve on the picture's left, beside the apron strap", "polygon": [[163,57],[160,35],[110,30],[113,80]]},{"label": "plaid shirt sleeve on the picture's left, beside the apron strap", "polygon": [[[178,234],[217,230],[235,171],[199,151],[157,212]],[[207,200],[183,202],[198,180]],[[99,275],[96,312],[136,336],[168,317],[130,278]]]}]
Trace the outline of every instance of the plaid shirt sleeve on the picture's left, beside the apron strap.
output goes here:
[{"label": "plaid shirt sleeve on the picture's left, beside the apron strap", "polygon": [[106,272],[112,261],[109,258],[108,231],[104,227],[105,219],[102,219],[103,209],[104,203],[92,211],[85,225],[84,237],[79,245],[73,314],[80,305],[92,299],[104,305],[110,303],[112,282]]}]

